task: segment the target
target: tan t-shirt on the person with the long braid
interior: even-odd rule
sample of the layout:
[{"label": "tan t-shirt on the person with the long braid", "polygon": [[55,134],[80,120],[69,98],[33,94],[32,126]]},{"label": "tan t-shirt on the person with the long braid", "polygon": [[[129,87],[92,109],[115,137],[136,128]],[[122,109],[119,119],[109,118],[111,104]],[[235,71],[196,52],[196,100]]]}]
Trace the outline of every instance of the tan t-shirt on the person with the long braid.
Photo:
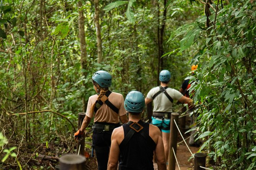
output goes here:
[{"label": "tan t-shirt on the person with the long braid", "polygon": [[[89,97],[86,115],[90,118],[93,117],[93,114],[90,113],[91,107],[97,99],[98,95]],[[108,107],[107,104],[103,103],[94,116],[94,122],[119,123],[119,116],[126,114],[126,110],[124,109],[124,97],[121,94],[112,92],[108,96],[108,99],[114,106],[117,107],[117,109],[119,109],[118,114]]]}]

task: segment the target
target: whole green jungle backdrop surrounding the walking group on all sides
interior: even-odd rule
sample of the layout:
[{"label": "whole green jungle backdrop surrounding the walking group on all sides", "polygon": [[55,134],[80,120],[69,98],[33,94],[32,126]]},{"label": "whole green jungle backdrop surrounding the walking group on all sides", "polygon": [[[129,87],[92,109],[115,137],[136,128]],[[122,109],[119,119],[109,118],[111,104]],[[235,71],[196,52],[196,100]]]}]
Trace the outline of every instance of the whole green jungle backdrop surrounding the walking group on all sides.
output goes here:
[{"label": "whole green jungle backdrop surrounding the walking group on all sides", "polygon": [[[1,0],[0,167],[50,169],[53,163],[38,157],[73,152],[77,115],[84,112],[82,99],[95,93],[95,71],[113,76],[113,91],[146,95],[158,85],[160,70],[168,69],[170,86],[179,89],[189,65],[196,63],[191,79],[202,111],[199,138],[208,136],[201,149],[209,146],[218,169],[254,169],[256,3],[100,0],[102,62],[94,5],[89,0]],[[84,63],[79,11],[85,17]]]}]

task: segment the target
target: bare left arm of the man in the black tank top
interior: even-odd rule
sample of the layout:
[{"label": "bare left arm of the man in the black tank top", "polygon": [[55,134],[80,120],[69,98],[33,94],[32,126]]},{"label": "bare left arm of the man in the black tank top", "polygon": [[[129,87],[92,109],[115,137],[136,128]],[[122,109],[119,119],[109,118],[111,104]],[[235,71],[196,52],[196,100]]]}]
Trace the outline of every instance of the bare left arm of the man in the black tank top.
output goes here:
[{"label": "bare left arm of the man in the black tank top", "polygon": [[118,164],[118,158],[119,158],[119,145],[118,145],[118,138],[119,138],[119,132],[120,128],[116,128],[113,130],[113,133],[111,135],[111,146],[110,146],[110,152],[109,152],[109,159],[108,159],[108,170],[117,170],[117,164]]}]

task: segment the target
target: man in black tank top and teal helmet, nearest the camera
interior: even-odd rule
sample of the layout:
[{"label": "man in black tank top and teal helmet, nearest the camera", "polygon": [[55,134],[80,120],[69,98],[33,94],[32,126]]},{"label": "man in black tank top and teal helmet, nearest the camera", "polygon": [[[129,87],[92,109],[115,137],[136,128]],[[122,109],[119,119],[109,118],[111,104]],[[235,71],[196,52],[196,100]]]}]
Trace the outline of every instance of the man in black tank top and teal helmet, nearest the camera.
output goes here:
[{"label": "man in black tank top and teal helmet, nearest the camera", "polygon": [[154,170],[154,151],[158,170],[166,170],[161,132],[157,126],[141,120],[145,107],[143,94],[129,92],[124,107],[129,113],[129,122],[112,133],[108,170],[116,170],[118,161],[120,170]]}]

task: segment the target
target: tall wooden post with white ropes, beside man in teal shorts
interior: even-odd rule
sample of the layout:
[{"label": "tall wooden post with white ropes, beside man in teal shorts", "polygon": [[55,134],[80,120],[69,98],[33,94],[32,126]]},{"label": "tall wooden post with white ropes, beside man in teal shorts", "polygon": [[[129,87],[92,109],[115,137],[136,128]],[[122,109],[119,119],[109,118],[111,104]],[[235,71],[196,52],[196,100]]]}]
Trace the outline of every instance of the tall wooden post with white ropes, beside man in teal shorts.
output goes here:
[{"label": "tall wooden post with white ropes, beside man in teal shorts", "polygon": [[[178,128],[176,127],[176,124],[174,123],[179,122],[179,114],[178,113],[172,113],[171,114],[171,129],[170,129],[170,148],[169,148],[169,159],[168,159],[168,170],[175,170],[176,166],[176,159],[174,154],[176,155],[177,152],[177,138],[178,138]],[[173,153],[174,150],[174,153]]]}]

